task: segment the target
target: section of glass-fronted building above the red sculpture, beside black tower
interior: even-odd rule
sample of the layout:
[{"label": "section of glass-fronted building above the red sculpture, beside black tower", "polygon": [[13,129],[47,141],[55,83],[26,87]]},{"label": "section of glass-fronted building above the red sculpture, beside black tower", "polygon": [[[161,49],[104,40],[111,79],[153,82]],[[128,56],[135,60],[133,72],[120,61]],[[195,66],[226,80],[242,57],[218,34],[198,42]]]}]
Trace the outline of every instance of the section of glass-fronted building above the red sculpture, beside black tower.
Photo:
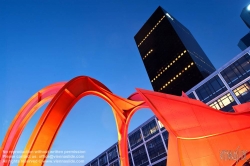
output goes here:
[{"label": "section of glass-fronted building above the red sculpture, beside black tower", "polygon": [[233,105],[250,101],[250,48],[187,91],[190,98],[233,112]]}]

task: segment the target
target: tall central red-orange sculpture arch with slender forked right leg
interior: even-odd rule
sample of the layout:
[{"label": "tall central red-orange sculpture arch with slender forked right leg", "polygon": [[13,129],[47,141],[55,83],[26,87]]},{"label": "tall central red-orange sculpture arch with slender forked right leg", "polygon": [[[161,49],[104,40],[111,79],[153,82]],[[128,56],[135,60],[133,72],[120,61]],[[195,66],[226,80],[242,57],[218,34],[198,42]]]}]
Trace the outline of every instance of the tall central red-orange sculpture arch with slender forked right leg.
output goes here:
[{"label": "tall central red-orange sculpture arch with slender forked right leg", "polygon": [[[105,86],[90,77],[76,77],[65,84],[49,103],[38,124],[36,125],[25,151],[48,151],[55,139],[55,136],[63,123],[67,114],[74,104],[86,95],[96,95],[107,101],[114,113],[117,130],[118,146],[120,149],[121,163],[128,165],[127,159],[127,140],[124,139],[124,126],[126,116],[135,107],[141,105],[141,101],[131,101],[112,94]],[[122,146],[121,146],[122,145]],[[37,153],[37,158],[41,154]],[[23,156],[22,158],[25,158]],[[44,160],[44,158],[42,158]],[[43,163],[31,163],[26,158],[25,163],[19,165],[43,165]]]}]

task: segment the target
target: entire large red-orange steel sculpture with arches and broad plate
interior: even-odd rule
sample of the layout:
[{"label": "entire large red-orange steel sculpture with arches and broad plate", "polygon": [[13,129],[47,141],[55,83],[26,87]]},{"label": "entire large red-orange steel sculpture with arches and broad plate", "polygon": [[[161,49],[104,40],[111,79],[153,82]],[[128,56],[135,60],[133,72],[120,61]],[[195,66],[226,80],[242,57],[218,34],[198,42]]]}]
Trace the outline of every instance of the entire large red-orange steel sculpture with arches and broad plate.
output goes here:
[{"label": "entire large red-orange steel sculpture with arches and broad plate", "polygon": [[[133,114],[150,108],[169,132],[168,166],[234,166],[243,165],[250,157],[250,104],[236,106],[235,113],[215,110],[186,95],[173,96],[136,89],[128,99],[113,94],[97,80],[79,76],[67,83],[53,84],[39,91],[21,108],[4,138],[0,151],[0,166],[4,151],[15,149],[16,143],[36,110],[49,105],[39,119],[25,151],[49,151],[71,108],[86,95],[96,95],[112,107],[118,132],[120,163],[128,166],[127,134]],[[42,152],[42,154],[44,154]],[[34,154],[32,154],[34,155]],[[36,153],[36,158],[41,157]],[[23,154],[19,166],[42,166]],[[41,159],[41,158],[40,158]],[[42,158],[45,160],[46,157]]]}]

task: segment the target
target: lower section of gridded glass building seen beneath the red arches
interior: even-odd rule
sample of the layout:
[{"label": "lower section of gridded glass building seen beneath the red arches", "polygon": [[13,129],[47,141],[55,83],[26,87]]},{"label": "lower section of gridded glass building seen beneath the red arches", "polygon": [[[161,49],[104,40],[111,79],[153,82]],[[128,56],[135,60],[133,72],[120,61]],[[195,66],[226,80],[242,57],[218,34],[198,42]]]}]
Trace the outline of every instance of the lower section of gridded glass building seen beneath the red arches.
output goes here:
[{"label": "lower section of gridded glass building seen beneath the red arches", "polygon": [[[156,117],[152,117],[128,135],[130,166],[166,165],[168,132]],[[119,166],[117,143],[85,166]]]}]

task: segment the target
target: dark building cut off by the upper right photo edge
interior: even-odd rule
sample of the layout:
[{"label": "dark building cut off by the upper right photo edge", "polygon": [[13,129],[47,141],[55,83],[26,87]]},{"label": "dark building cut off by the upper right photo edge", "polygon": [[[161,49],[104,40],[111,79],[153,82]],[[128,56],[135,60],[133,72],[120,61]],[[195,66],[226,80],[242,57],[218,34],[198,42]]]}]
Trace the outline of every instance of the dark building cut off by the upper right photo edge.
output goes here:
[{"label": "dark building cut off by the upper right photo edge", "polygon": [[[240,14],[241,19],[250,28],[250,5],[244,7]],[[238,47],[243,51],[250,46],[250,33],[246,34],[243,38],[240,39]]]}]

